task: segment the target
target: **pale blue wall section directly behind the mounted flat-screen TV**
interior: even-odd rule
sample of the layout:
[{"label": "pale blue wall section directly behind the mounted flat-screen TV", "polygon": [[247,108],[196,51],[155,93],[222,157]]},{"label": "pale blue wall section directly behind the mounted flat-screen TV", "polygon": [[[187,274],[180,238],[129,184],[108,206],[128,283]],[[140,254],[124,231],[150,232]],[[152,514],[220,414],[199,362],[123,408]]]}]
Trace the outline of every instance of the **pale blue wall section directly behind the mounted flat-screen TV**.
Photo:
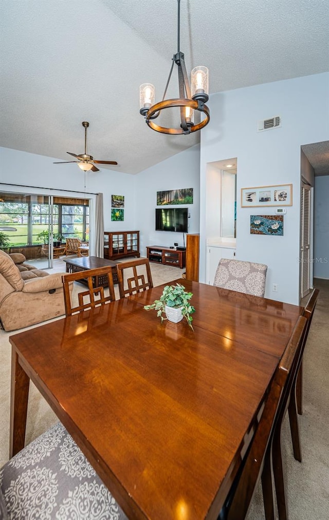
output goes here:
[{"label": "pale blue wall section directly behind the mounted flat-screen TV", "polygon": [[[178,136],[179,138],[180,136]],[[193,204],[189,208],[189,233],[199,233],[200,224],[200,146],[162,161],[136,175],[136,224],[141,230],[140,253],[146,255],[148,245],[183,245],[183,233],[155,231],[156,192],[180,188],[193,188]],[[173,206],[166,206],[173,207]],[[185,235],[186,245],[186,235]]]}]

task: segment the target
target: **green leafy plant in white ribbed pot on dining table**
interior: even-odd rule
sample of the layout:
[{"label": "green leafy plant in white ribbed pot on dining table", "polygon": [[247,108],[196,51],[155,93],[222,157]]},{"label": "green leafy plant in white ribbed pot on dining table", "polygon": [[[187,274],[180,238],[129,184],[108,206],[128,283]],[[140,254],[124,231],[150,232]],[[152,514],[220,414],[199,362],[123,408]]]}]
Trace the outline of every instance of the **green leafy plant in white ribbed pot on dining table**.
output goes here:
[{"label": "green leafy plant in white ribbed pot on dining table", "polygon": [[[151,305],[144,305],[144,309],[157,311],[157,316],[161,318],[161,323],[164,319],[178,323],[184,317],[192,330],[192,314],[195,312],[193,305],[190,304],[192,293],[187,292],[185,287],[180,283],[176,285],[166,285],[163,290],[160,300],[154,300]],[[163,315],[166,315],[166,318]]]}]

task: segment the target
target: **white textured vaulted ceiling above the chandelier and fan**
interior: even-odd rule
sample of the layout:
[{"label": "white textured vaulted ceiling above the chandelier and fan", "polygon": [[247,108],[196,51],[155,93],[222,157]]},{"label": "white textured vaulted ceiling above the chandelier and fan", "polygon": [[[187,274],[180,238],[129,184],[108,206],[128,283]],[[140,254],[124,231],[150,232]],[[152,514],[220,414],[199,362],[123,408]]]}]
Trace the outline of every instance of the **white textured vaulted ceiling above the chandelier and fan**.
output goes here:
[{"label": "white textured vaulted ceiling above the chandelier and fan", "polygon": [[[321,73],[328,16],[327,0],[181,0],[180,48],[188,72],[209,68],[210,93]],[[153,132],[139,114],[141,83],[163,95],[176,0],[2,0],[0,23],[1,146],[69,160],[89,121],[88,153],[137,173],[200,139]]]}]

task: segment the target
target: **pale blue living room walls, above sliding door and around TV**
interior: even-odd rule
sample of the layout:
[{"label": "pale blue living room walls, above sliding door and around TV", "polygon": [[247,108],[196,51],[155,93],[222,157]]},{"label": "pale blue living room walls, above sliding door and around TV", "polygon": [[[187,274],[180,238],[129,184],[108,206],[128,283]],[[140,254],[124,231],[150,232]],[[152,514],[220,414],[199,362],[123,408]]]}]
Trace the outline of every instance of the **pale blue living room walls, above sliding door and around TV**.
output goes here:
[{"label": "pale blue living room walls, above sliding door and around TV", "polygon": [[[156,192],[193,188],[193,204],[187,204],[191,217],[189,232],[198,233],[200,223],[200,146],[196,145],[137,175],[101,169],[86,173],[75,164],[52,164],[57,159],[0,148],[0,191],[24,191],[95,199],[88,193],[103,193],[104,229],[106,231],[140,230],[140,252],[147,245],[183,245],[182,233],[155,231]],[[38,189],[21,190],[18,186]],[[69,192],[63,190],[72,190]],[[78,193],[74,193],[78,191]],[[111,195],[125,197],[124,222],[111,222]],[[93,205],[94,207],[95,205]],[[170,206],[168,206],[170,207]],[[186,244],[186,237],[185,237]]]}]

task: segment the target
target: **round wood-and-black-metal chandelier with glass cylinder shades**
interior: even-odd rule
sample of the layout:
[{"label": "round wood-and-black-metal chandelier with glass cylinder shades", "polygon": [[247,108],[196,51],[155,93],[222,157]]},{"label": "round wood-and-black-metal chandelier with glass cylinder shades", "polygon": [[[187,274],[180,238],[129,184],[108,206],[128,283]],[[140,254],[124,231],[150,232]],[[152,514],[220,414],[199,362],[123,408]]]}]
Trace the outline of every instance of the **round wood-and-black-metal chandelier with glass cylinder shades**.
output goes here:
[{"label": "round wood-and-black-metal chandelier with glass cylinder shades", "polygon": [[[154,104],[155,89],[151,83],[143,83],[139,87],[140,114],[145,116],[147,124],[156,132],[163,134],[190,134],[201,130],[210,121],[208,107],[204,104],[208,99],[208,69],[207,67],[195,67],[191,72],[191,88],[184,61],[184,54],[180,52],[180,0],[178,2],[178,30],[177,30],[177,53],[174,54],[172,67],[169,72],[162,101]],[[179,98],[165,100],[170,77],[172,76],[174,63],[178,68]],[[191,95],[192,94],[192,95]],[[165,108],[180,107],[180,123],[178,128],[167,128],[153,122],[159,117]],[[202,112],[205,117],[198,123],[193,123],[194,110]]]}]

